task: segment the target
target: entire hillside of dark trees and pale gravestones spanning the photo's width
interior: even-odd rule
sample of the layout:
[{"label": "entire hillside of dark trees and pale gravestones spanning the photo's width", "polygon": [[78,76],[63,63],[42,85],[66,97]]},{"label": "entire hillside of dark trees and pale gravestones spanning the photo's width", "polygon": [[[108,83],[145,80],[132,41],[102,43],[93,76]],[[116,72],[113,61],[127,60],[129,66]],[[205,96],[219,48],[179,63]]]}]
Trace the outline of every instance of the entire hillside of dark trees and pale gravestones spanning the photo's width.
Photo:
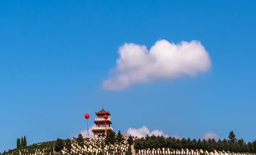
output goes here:
[{"label": "entire hillside of dark trees and pale gravestones spanning the photo's width", "polygon": [[218,154],[256,154],[256,140],[253,142],[245,143],[243,139],[237,139],[233,131],[230,131],[227,139],[218,140],[215,139],[201,139],[198,140],[190,138],[176,139],[175,137],[164,136],[146,136],[145,138],[135,138],[130,135],[128,138],[122,137],[122,133],[119,131],[109,132],[105,138],[83,138],[82,134],[78,135],[78,138],[72,139],[57,139],[56,141],[49,141],[43,143],[36,143],[32,145],[26,144],[26,137],[17,138],[17,148],[4,151],[0,155],[107,155],[107,152],[111,155],[121,155],[125,152],[125,155],[131,155],[131,146],[134,145],[134,149],[139,154],[138,150],[149,150],[149,154],[156,155],[155,150],[167,150],[177,154],[186,154],[190,152],[190,155],[195,155],[198,151],[203,151],[203,155],[216,155]]}]

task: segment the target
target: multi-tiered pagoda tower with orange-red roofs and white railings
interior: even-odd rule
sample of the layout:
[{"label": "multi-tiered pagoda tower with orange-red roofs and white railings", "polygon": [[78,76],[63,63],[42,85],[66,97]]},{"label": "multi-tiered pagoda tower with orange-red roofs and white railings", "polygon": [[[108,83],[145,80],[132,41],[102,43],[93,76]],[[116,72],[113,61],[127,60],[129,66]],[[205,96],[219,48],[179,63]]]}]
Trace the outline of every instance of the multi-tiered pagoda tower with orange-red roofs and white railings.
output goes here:
[{"label": "multi-tiered pagoda tower with orange-red roofs and white railings", "polygon": [[[95,112],[95,114],[97,115],[94,121],[96,127],[92,129],[92,132],[94,133],[94,137],[95,138],[105,137],[105,130],[107,131],[107,134],[113,131],[113,128],[110,126],[110,124],[112,124],[109,117],[111,113],[106,112],[102,107],[102,110],[99,111],[98,113]],[[104,119],[104,115],[107,115],[108,118]]]}]

